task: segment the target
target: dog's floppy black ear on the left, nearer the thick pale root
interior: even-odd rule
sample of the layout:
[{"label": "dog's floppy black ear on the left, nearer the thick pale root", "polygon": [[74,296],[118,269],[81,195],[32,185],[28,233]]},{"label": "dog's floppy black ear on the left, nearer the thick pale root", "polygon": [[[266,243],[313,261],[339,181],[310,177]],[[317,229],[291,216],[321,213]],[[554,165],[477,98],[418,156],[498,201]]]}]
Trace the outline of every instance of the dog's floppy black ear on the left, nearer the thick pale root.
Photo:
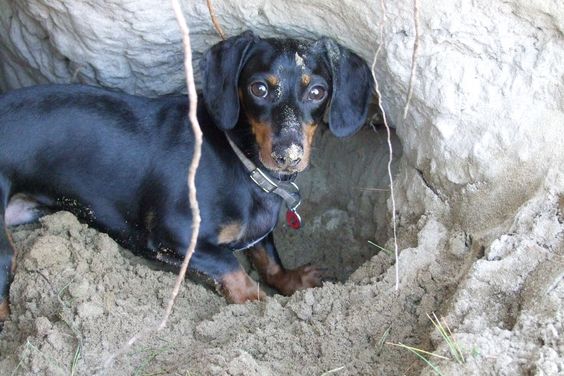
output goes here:
[{"label": "dog's floppy black ear on the left, nearer the thick pale root", "polygon": [[221,129],[233,128],[239,119],[239,73],[256,39],[246,31],[216,44],[200,61],[204,103]]}]

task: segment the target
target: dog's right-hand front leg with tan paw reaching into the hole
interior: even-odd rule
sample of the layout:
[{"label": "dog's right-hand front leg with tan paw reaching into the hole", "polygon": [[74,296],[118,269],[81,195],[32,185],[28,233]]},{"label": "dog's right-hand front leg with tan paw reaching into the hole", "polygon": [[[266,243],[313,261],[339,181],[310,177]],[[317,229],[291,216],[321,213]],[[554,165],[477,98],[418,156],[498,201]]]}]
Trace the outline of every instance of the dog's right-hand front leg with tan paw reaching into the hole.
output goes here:
[{"label": "dog's right-hand front leg with tan paw reaching into the hole", "polygon": [[321,286],[322,270],[304,265],[287,270],[282,266],[274,238],[270,233],[249,252],[253,265],[261,277],[284,295],[292,295],[297,290]]}]

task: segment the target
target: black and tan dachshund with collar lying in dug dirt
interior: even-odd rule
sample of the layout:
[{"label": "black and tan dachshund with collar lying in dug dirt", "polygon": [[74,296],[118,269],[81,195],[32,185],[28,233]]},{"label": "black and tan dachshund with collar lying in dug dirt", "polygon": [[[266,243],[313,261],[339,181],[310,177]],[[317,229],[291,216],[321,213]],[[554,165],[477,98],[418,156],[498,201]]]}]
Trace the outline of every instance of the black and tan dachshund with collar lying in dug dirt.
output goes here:
[{"label": "black and tan dachshund with collar lying in dug dirt", "polygon": [[[233,255],[249,248],[262,278],[281,293],[319,285],[318,269],[281,265],[272,230],[281,205],[297,204],[291,182],[308,165],[324,116],[338,137],[364,123],[372,94],[366,63],[330,39],[246,32],[212,47],[201,68],[202,224],[191,269],[229,301],[261,298]],[[0,97],[0,225],[34,220],[38,207],[66,209],[125,247],[179,263],[191,231],[192,150],[185,96],[80,85],[10,92]],[[9,235],[0,231],[0,319],[13,268]]]}]

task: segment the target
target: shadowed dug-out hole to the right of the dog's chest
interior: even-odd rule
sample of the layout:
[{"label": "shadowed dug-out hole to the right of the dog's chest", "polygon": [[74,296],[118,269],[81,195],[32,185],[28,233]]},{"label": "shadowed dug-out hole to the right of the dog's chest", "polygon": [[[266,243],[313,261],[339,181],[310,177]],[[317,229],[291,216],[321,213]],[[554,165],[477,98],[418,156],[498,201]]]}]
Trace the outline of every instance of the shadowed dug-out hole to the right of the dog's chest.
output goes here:
[{"label": "shadowed dug-out hole to the right of the dog's chest", "polygon": [[[392,133],[395,174],[401,155]],[[275,241],[287,267],[306,263],[327,268],[327,277],[344,281],[378,253],[368,240],[382,244],[389,235],[386,201],[388,143],[383,127],[363,128],[347,139],[324,129],[317,135],[309,169],[298,178],[304,226],[281,220]]]}]

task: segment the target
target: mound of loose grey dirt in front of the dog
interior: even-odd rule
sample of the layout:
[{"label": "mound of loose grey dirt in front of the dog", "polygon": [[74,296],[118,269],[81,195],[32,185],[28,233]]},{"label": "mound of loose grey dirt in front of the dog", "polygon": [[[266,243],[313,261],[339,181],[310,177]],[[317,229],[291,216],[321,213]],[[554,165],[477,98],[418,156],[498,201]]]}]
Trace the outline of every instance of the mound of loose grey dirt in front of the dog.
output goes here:
[{"label": "mound of loose grey dirt in front of the dog", "polygon": [[[7,374],[93,373],[131,335],[157,322],[174,282],[173,273],[150,269],[69,213],[19,229],[14,239],[21,252],[13,312],[0,342]],[[187,281],[168,328],[109,373],[320,374],[345,366],[344,374],[395,374],[407,354],[383,348],[380,339],[389,332],[413,341],[424,333],[413,318],[424,290],[396,296],[389,277],[371,282],[390,261],[376,256],[355,274],[358,283],[245,305],[227,305]]]}]

